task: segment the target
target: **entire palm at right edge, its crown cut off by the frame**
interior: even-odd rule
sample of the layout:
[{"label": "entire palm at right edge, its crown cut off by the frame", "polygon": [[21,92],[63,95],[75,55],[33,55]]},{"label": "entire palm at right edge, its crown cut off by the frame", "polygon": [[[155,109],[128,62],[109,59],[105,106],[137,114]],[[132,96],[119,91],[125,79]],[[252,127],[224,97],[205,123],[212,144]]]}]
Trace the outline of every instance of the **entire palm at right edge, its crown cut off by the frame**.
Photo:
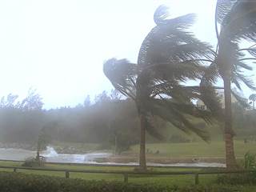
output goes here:
[{"label": "entire palm at right edge, its crown cut off by the frame", "polygon": [[[219,28],[219,29],[218,29]],[[203,78],[204,82],[214,83],[221,77],[225,94],[224,134],[226,143],[226,166],[228,169],[237,167],[234,156],[234,130],[232,128],[231,94],[242,102],[238,94],[231,89],[234,83],[242,90],[241,82],[255,90],[253,81],[243,74],[244,70],[252,70],[248,65],[254,60],[254,46],[241,49],[241,41],[255,41],[256,37],[256,1],[255,0],[218,0],[215,11],[215,30],[218,46],[215,59]],[[219,30],[219,31],[218,31]],[[248,57],[249,53],[251,57]]]}]

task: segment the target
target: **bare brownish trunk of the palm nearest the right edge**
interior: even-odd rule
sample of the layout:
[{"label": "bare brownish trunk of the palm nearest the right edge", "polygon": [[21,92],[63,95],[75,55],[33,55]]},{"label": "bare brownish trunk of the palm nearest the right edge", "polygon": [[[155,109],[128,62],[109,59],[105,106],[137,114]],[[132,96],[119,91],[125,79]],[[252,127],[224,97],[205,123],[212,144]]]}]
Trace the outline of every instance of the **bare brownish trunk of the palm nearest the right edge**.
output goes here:
[{"label": "bare brownish trunk of the palm nearest the right edge", "polygon": [[232,129],[232,110],[231,110],[231,83],[229,78],[223,78],[225,94],[225,146],[226,146],[226,167],[234,169],[237,162],[234,156],[234,131]]}]

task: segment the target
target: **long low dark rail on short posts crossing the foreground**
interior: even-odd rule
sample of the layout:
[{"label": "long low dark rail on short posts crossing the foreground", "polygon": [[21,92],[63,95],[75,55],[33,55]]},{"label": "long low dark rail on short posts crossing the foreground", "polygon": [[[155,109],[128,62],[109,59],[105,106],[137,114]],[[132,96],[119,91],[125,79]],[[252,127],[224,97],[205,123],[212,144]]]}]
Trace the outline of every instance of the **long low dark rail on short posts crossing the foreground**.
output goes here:
[{"label": "long low dark rail on short posts crossing the foreground", "polygon": [[256,170],[213,170],[213,171],[119,171],[119,170],[66,170],[66,169],[49,169],[40,167],[23,167],[23,166],[0,166],[0,169],[13,169],[14,172],[17,170],[43,170],[43,171],[56,171],[64,172],[65,178],[70,178],[70,173],[84,173],[84,174],[122,174],[123,181],[128,182],[129,175],[141,174],[141,175],[194,175],[194,184],[199,184],[199,175],[203,174],[246,174],[246,173],[256,173]]}]

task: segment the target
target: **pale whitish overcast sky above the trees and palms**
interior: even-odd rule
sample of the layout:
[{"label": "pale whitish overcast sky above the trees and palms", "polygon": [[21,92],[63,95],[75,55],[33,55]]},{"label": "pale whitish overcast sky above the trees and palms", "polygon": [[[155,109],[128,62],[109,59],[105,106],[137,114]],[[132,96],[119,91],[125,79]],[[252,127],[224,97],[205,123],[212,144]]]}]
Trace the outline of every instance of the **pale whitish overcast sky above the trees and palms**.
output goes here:
[{"label": "pale whitish overcast sky above the trees and palms", "polygon": [[154,10],[198,14],[198,38],[214,44],[215,0],[1,0],[0,96],[24,97],[33,86],[45,108],[75,106],[86,94],[110,90],[102,63],[136,61],[154,27]]}]

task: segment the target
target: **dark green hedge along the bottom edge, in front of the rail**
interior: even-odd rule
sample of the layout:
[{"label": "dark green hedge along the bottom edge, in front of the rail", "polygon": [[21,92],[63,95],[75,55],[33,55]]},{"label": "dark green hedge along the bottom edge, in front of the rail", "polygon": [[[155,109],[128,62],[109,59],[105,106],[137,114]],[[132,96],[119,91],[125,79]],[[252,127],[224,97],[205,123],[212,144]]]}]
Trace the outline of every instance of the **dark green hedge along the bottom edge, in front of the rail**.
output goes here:
[{"label": "dark green hedge along the bottom edge, in front of the rail", "polygon": [[0,172],[1,192],[234,192],[232,186],[153,186]]}]

